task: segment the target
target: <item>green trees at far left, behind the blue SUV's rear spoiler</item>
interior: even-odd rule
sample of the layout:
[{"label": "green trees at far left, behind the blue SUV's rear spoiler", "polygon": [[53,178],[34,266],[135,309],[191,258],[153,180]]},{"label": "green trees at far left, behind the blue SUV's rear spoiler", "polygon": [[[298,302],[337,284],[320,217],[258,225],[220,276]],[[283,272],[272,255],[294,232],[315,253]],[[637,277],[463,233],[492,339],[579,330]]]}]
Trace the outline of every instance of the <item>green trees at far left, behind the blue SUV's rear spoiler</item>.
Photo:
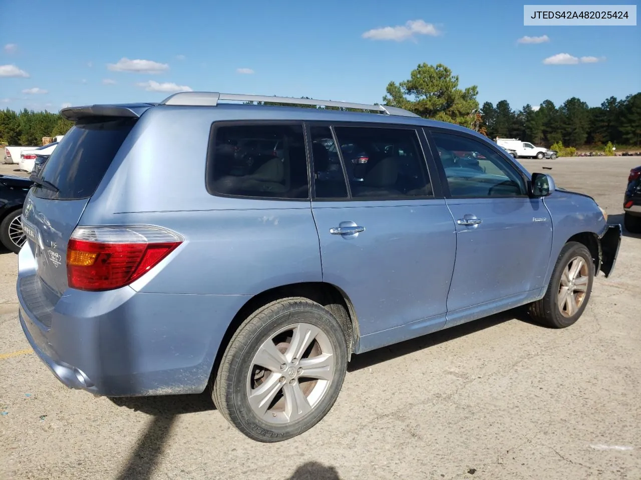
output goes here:
[{"label": "green trees at far left, behind the blue SUV's rear spoiler", "polygon": [[43,137],[64,135],[73,122],[60,113],[24,109],[0,110],[0,143],[6,145],[42,145]]}]

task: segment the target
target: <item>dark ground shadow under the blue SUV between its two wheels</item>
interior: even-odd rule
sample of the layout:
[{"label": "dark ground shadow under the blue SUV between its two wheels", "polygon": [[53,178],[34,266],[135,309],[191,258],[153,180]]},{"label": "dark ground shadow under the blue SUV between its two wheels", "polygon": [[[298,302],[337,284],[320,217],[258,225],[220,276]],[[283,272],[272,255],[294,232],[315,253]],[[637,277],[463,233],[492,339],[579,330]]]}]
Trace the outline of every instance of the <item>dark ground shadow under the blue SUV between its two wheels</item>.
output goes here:
[{"label": "dark ground shadow under the blue SUV between its two wheels", "polygon": [[445,328],[439,332],[429,333],[422,337],[405,340],[404,342],[390,345],[388,347],[368,351],[361,353],[360,355],[353,355],[349,365],[347,366],[347,371],[356,372],[360,369],[372,367],[372,365],[381,364],[388,360],[394,360],[394,358],[399,358],[400,356],[408,355],[444,342],[449,342],[449,340],[465,337],[465,335],[470,335],[470,333],[480,332],[486,328],[490,328],[513,319],[540,326],[528,316],[524,307],[514,308],[513,310],[501,312],[472,322],[463,323],[451,328]]}]

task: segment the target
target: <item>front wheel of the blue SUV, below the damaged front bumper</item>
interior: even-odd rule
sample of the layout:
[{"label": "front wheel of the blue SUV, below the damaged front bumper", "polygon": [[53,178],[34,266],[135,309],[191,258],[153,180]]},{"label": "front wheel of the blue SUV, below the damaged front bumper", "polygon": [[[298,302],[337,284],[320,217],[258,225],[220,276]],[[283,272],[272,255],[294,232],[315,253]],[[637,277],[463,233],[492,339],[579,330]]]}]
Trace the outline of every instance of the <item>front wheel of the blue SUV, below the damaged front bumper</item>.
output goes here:
[{"label": "front wheel of the blue SUV, below the damaged front bumper", "polygon": [[545,296],[529,306],[529,315],[552,328],[576,323],[590,300],[593,282],[590,251],[582,243],[566,243],[556,260]]}]

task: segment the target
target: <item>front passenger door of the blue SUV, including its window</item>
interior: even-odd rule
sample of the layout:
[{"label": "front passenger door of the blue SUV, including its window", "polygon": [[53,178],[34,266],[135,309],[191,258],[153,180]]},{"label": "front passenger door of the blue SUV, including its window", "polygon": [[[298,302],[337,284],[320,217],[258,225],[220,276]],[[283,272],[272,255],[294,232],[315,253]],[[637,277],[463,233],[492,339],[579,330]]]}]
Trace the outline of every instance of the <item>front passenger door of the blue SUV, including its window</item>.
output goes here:
[{"label": "front passenger door of the blue SUV, including its window", "polygon": [[[471,135],[431,131],[456,223],[447,326],[500,310],[544,287],[552,221],[510,159]],[[473,315],[474,312],[478,315]]]}]

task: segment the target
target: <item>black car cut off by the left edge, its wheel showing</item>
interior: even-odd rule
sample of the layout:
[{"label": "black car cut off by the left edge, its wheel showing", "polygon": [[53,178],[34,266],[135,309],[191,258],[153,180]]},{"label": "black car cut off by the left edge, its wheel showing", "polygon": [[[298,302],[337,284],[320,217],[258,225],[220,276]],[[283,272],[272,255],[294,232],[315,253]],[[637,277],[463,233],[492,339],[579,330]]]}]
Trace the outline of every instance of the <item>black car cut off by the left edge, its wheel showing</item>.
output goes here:
[{"label": "black car cut off by the left edge, its wheel showing", "polygon": [[0,243],[18,253],[24,244],[22,204],[33,182],[13,175],[0,175]]}]

